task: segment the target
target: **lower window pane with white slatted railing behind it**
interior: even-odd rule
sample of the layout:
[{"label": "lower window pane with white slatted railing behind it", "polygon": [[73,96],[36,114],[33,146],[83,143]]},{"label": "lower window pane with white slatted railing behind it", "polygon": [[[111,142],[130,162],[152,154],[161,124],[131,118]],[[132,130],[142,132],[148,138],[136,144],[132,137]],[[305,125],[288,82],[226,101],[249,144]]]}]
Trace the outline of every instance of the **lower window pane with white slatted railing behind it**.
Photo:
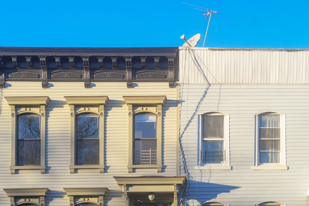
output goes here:
[{"label": "lower window pane with white slatted railing behind it", "polygon": [[134,164],[156,164],[157,141],[151,139],[134,141]]}]

